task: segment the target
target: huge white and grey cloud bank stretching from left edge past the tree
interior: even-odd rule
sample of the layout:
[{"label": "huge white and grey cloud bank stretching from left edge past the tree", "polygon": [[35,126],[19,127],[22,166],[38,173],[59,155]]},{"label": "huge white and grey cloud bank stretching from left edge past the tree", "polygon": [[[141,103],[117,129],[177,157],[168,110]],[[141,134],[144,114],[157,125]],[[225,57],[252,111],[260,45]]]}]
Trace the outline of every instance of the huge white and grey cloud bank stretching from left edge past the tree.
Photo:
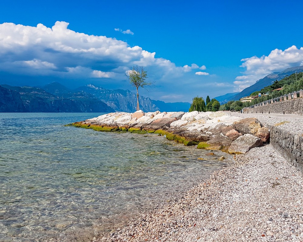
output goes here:
[{"label": "huge white and grey cloud bank stretching from left edge past the tree", "polygon": [[[115,31],[122,32],[120,28]],[[156,58],[155,55],[155,52],[139,46],[131,47],[127,42],[115,38],[72,31],[68,29],[68,23],[63,21],[57,21],[51,28],[43,24],[34,27],[0,24],[0,78],[4,80],[2,77],[5,76],[8,84],[12,83],[9,77],[14,80],[14,75],[26,75],[28,80],[39,80],[37,84],[43,80],[40,76],[47,76],[51,80],[58,78],[66,83],[68,80],[69,83],[78,80],[79,83],[88,84],[93,80],[102,86],[107,83],[108,88],[127,89],[129,85],[125,71],[134,65],[143,65],[148,70],[149,78],[161,83],[163,90],[168,92],[174,88],[176,95],[182,93],[191,100],[194,95],[192,87],[201,84],[201,78],[192,70],[204,67],[195,63],[176,66],[170,60]],[[157,90],[154,98],[165,95],[156,93]],[[199,93],[201,91],[197,89],[196,95]]]}]

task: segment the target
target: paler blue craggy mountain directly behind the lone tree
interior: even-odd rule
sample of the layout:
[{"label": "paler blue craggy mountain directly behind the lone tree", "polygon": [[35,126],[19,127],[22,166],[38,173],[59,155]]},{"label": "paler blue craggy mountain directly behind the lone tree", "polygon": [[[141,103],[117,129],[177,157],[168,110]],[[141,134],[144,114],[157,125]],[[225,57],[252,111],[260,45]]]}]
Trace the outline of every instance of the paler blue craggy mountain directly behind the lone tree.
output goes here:
[{"label": "paler blue craggy mountain directly behind the lone tree", "polygon": [[[133,113],[137,108],[137,94],[130,90],[108,90],[92,84],[79,87],[76,90],[82,90],[94,95],[118,112]],[[149,97],[139,95],[139,104],[140,109],[144,112],[154,112],[159,110]]]}]

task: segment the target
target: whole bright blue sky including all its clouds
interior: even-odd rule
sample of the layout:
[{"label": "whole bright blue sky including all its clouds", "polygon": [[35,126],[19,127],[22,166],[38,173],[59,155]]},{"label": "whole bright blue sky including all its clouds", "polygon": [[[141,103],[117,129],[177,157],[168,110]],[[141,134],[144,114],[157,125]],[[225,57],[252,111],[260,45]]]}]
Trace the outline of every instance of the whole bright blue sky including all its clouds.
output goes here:
[{"label": "whole bright blue sky including all its clouds", "polygon": [[303,64],[301,1],[0,1],[0,84],[58,81],[190,102]]}]

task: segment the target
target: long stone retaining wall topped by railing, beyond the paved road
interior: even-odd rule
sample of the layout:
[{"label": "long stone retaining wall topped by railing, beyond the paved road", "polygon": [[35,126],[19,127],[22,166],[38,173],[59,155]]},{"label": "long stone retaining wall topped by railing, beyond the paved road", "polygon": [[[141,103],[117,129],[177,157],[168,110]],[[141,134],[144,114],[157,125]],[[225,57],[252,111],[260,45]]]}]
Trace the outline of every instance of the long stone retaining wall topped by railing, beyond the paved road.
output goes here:
[{"label": "long stone retaining wall topped by railing, beyond the paved road", "polygon": [[303,98],[294,98],[281,102],[262,105],[254,108],[244,108],[244,113],[285,113],[303,115]]}]

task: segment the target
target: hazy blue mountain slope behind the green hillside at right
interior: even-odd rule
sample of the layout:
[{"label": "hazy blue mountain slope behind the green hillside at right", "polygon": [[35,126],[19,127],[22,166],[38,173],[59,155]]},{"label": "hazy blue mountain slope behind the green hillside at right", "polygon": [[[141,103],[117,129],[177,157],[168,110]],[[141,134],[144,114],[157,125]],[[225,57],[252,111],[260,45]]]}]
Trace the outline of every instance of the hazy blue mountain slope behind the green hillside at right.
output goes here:
[{"label": "hazy blue mountain slope behind the green hillside at right", "polygon": [[296,71],[302,72],[303,66],[290,67],[281,72],[273,72],[273,73],[269,74],[268,76],[256,81],[255,84],[251,85],[250,87],[245,88],[243,91],[236,94],[235,96],[230,97],[229,100],[239,100],[241,97],[249,96],[251,93],[261,90],[263,87],[267,87],[267,86],[271,85],[272,81],[281,80],[284,77],[286,77],[287,75],[290,76],[291,74],[294,74]]}]

